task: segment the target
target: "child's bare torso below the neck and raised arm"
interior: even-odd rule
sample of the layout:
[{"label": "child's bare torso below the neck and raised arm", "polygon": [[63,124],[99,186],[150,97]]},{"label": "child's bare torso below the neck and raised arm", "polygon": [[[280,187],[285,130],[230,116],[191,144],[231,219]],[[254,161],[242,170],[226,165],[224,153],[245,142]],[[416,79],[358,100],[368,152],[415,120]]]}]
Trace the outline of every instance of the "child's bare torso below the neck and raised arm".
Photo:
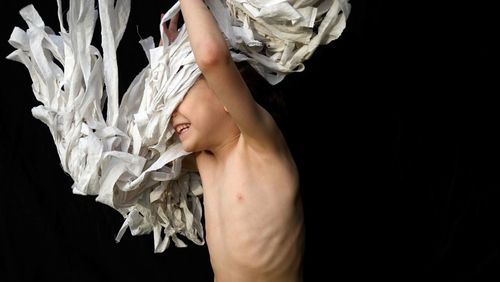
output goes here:
[{"label": "child's bare torso below the neck and raised arm", "polygon": [[[196,157],[209,251],[220,258],[212,260],[217,281],[296,281],[304,234],[292,156],[257,151],[243,137],[225,150],[222,162],[208,152]],[[224,251],[213,253],[216,245]]]}]

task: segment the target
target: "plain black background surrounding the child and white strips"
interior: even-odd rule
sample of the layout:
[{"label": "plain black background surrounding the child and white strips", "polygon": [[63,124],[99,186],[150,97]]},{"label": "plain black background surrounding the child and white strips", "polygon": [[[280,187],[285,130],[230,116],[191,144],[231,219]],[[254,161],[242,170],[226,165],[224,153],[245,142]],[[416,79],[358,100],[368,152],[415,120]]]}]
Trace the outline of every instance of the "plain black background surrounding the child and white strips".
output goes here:
[{"label": "plain black background surrounding the child and white strips", "polygon": [[[2,2],[2,57],[31,2]],[[33,2],[56,29],[56,1]],[[305,281],[498,281],[498,17],[485,4],[394,2],[351,1],[342,37],[279,86],[301,174]],[[137,41],[158,39],[169,3],[132,1],[121,93],[146,65]],[[128,231],[114,243],[122,217],[71,194],[31,115],[27,70],[1,66],[0,280],[212,281],[206,246],[154,254],[152,235]]]}]

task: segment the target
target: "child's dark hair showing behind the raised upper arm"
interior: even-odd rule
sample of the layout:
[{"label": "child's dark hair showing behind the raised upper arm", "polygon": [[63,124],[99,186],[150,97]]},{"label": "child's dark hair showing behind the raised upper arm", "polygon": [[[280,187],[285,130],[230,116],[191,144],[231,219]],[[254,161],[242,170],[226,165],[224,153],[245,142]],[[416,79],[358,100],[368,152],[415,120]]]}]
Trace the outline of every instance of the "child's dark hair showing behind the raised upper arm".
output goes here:
[{"label": "child's dark hair showing behind the raised upper arm", "polygon": [[245,61],[236,62],[236,66],[255,101],[266,109],[281,127],[286,119],[286,101],[281,87],[271,85]]}]

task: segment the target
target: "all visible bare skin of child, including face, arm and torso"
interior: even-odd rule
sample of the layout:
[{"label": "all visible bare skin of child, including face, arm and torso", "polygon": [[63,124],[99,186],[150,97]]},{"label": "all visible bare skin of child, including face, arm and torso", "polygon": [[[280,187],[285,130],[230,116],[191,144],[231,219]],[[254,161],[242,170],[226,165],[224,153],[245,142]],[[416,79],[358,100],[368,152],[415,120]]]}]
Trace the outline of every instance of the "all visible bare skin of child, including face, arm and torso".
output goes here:
[{"label": "all visible bare skin of child, including face, arm and torso", "polygon": [[[181,0],[181,11],[203,75],[172,126],[196,156],[215,280],[301,281],[302,204],[286,141],[252,98],[204,2]],[[176,21],[165,29],[169,39]]]}]

